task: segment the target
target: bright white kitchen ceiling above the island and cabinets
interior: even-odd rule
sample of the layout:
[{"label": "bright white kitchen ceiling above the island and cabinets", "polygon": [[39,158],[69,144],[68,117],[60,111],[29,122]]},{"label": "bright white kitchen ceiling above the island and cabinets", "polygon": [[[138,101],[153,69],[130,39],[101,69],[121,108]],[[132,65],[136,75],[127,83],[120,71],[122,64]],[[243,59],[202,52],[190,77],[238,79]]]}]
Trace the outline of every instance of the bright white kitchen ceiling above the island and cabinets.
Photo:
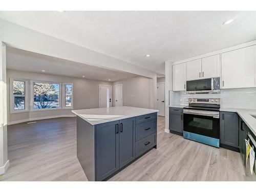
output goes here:
[{"label": "bright white kitchen ceiling above the island and cabinets", "polygon": [[[256,11],[2,11],[0,18],[162,74],[166,60],[256,39]],[[222,25],[228,19],[236,20]]]}]

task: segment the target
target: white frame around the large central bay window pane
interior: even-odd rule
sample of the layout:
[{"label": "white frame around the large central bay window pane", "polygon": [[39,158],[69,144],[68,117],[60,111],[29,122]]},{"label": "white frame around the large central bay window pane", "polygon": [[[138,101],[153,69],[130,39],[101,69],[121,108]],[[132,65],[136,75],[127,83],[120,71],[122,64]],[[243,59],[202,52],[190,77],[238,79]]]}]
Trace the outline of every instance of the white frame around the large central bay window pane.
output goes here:
[{"label": "white frame around the large central bay window pane", "polygon": [[[39,83],[52,83],[59,85],[59,107],[58,108],[46,108],[46,109],[34,109],[34,82]],[[42,80],[30,80],[30,111],[49,111],[49,110],[61,110],[62,109],[62,83],[53,81],[42,81]]]}]

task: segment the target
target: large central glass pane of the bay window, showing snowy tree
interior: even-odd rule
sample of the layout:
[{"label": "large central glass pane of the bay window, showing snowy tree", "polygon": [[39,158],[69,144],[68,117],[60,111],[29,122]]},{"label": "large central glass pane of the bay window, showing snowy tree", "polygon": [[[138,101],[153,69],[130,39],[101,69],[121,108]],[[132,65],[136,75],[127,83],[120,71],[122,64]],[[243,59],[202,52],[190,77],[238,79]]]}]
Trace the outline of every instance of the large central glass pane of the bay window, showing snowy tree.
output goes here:
[{"label": "large central glass pane of the bay window, showing snowy tree", "polygon": [[34,82],[34,109],[59,107],[59,84]]}]

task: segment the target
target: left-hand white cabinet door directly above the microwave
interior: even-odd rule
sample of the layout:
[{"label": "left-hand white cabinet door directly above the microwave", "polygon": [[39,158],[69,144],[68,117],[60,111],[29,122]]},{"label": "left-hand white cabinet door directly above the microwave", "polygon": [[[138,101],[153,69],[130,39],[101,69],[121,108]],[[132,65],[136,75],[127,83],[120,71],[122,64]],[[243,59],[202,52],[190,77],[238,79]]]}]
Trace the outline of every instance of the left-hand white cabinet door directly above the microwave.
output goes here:
[{"label": "left-hand white cabinet door directly above the microwave", "polygon": [[202,59],[187,62],[187,81],[202,78]]}]

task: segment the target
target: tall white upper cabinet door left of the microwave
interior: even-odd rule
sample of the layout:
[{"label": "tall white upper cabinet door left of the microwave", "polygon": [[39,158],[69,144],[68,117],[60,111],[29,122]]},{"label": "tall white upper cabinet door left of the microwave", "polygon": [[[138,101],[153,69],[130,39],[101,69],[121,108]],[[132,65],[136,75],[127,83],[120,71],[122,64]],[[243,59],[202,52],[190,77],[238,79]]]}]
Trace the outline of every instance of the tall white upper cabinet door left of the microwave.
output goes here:
[{"label": "tall white upper cabinet door left of the microwave", "polygon": [[173,66],[173,91],[186,90],[186,63]]}]

